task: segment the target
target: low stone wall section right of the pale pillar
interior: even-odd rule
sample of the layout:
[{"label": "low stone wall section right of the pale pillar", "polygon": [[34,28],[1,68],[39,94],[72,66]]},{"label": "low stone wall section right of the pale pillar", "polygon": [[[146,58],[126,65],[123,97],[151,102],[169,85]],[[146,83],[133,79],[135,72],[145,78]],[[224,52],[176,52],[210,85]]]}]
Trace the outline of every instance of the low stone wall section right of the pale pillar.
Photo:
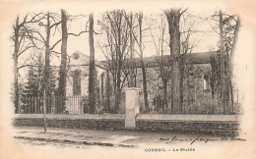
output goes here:
[{"label": "low stone wall section right of the pale pillar", "polygon": [[139,115],[137,130],[187,132],[235,136],[239,132],[235,115]]}]

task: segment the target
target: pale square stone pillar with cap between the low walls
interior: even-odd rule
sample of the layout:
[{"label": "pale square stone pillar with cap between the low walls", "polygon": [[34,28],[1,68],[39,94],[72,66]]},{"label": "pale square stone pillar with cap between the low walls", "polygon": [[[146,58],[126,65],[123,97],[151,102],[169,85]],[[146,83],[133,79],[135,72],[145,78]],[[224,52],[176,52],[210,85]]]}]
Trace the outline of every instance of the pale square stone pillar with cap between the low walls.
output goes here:
[{"label": "pale square stone pillar with cap between the low walls", "polygon": [[136,129],[135,117],[139,114],[140,108],[140,88],[129,87],[125,89],[126,100],[126,117],[125,117],[125,129],[134,130]]}]

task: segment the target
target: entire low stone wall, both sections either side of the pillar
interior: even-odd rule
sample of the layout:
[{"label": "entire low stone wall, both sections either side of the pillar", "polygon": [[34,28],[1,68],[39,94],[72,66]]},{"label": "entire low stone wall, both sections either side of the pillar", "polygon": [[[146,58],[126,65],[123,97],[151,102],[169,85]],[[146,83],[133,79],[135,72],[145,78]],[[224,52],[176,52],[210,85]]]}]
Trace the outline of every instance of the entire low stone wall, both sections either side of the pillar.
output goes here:
[{"label": "entire low stone wall, both sections either side of the pillar", "polygon": [[[47,126],[69,129],[124,130],[124,114],[46,115]],[[14,126],[43,127],[43,115],[20,114]],[[136,130],[151,132],[208,133],[234,136],[239,132],[236,115],[143,115],[136,118]]]}]

